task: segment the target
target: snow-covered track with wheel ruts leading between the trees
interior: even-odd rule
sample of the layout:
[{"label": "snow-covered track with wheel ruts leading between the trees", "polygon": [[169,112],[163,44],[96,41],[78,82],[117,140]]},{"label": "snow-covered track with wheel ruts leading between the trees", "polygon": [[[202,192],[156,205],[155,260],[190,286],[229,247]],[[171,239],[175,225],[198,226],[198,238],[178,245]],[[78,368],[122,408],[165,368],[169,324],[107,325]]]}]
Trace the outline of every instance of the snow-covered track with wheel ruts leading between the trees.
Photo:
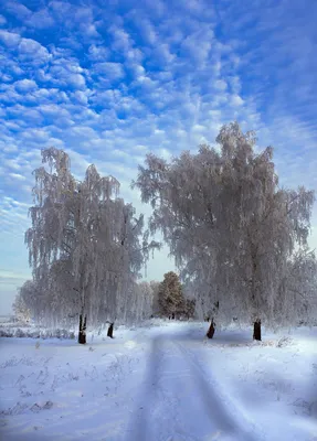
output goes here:
[{"label": "snow-covered track with wheel ruts leading between the trees", "polygon": [[177,340],[176,335],[154,337],[146,380],[125,440],[263,440]]}]

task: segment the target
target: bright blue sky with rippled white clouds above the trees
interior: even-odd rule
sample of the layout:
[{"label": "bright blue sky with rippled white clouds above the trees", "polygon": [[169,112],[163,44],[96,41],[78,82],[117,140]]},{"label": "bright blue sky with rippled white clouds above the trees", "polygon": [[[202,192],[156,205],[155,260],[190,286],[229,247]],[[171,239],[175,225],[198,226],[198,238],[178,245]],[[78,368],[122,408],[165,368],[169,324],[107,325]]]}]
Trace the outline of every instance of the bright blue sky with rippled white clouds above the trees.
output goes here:
[{"label": "bright blue sky with rippled white clouds above the trees", "polygon": [[[237,120],[274,147],[281,185],[317,190],[317,2],[2,0],[0,6],[0,314],[30,278],[32,171],[41,149],[94,163],[121,184],[148,152],[214,143]],[[309,245],[317,247],[317,209]],[[168,249],[147,278],[173,269]]]}]

